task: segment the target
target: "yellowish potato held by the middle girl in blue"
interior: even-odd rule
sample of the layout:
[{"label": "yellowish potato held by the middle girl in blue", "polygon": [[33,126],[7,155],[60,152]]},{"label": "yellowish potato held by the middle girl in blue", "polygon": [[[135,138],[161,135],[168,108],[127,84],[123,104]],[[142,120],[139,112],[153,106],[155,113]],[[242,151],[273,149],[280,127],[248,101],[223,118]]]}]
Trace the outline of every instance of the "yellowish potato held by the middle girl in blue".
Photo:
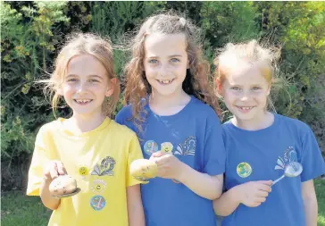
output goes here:
[{"label": "yellowish potato held by the middle girl in blue", "polygon": [[156,177],[158,166],[148,159],[137,159],[129,167],[129,172],[137,180],[148,180]]}]

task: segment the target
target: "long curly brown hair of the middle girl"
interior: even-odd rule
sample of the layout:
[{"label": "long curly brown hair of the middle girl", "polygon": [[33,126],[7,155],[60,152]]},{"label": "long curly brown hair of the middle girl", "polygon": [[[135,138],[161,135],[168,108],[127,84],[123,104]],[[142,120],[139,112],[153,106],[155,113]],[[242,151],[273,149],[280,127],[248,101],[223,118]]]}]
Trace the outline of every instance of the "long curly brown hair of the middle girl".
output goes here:
[{"label": "long curly brown hair of the middle girl", "polygon": [[196,96],[205,104],[212,106],[216,113],[220,113],[218,99],[213,93],[212,83],[209,82],[210,64],[204,60],[199,29],[175,13],[161,13],[147,18],[140,27],[131,42],[132,58],[125,67],[124,104],[132,105],[132,119],[136,124],[139,125],[146,120],[140,113],[144,112],[144,106],[148,102],[147,95],[152,91],[146,80],[144,58],[146,36],[153,33],[185,35],[189,69],[182,88],[188,95]]}]

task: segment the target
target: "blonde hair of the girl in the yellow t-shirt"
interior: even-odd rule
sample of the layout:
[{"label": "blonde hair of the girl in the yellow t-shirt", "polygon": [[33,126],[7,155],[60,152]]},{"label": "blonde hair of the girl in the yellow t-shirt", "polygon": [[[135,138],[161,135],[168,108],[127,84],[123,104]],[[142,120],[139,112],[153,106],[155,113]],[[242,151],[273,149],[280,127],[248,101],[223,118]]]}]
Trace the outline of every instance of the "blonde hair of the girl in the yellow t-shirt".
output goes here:
[{"label": "blonde hair of the girl in the yellow t-shirt", "polygon": [[[75,33],[67,38],[66,45],[63,46],[54,63],[54,72],[49,80],[43,80],[46,83],[44,92],[50,96],[53,111],[58,107],[61,88],[67,67],[71,58],[79,54],[90,54],[104,65],[109,80],[117,78],[112,60],[112,45],[109,39],[100,38],[94,34]],[[103,103],[103,112],[106,116],[112,116],[120,97],[120,84],[112,84],[114,92],[112,96],[106,97]]]}]

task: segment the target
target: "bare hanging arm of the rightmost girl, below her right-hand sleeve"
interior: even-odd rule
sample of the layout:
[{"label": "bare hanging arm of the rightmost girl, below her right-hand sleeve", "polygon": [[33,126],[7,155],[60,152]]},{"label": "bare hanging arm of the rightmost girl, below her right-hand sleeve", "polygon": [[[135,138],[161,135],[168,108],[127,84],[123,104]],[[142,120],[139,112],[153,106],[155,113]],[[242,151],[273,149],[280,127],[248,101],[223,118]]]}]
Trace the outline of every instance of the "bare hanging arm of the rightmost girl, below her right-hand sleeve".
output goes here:
[{"label": "bare hanging arm of the rightmost girl, below her right-hand sleeve", "polygon": [[303,182],[302,196],[304,200],[306,226],[317,226],[318,205],[313,180]]}]

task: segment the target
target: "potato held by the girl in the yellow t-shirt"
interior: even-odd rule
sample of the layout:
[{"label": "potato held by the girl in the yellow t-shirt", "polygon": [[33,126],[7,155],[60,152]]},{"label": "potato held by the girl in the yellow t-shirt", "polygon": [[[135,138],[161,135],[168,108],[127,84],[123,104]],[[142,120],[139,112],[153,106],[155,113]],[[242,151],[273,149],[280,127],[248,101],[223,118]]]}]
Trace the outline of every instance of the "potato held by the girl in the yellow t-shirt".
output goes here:
[{"label": "potato held by the girl in the yellow t-shirt", "polygon": [[66,194],[71,194],[77,189],[77,181],[74,180],[69,175],[63,175],[55,178],[50,186],[51,196],[62,196]]}]

